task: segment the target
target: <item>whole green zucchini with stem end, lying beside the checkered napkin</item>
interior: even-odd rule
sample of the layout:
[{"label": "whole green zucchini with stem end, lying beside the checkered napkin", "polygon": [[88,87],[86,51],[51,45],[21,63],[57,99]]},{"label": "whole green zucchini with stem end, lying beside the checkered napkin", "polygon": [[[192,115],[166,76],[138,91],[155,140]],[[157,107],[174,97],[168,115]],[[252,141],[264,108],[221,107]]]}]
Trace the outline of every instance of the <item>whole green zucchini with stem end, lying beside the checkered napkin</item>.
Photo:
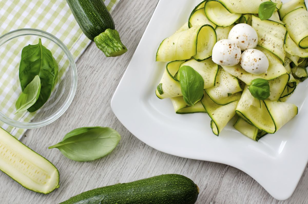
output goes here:
[{"label": "whole green zucchini with stem end, lying beside the checkered napkin", "polygon": [[94,40],[107,57],[127,52],[103,0],[67,0],[67,3],[83,33]]}]

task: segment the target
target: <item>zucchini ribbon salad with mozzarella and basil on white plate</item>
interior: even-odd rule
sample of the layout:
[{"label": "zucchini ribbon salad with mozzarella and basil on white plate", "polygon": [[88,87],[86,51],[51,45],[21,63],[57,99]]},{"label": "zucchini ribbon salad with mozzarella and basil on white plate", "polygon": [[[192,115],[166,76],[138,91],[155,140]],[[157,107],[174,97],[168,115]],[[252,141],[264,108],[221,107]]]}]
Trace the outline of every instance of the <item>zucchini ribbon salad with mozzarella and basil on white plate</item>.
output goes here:
[{"label": "zucchini ribbon salad with mozzarella and basil on white plate", "polygon": [[164,39],[168,62],[156,89],[178,114],[207,112],[219,135],[226,124],[258,141],[298,113],[286,103],[307,78],[308,11],[304,0],[206,0]]}]

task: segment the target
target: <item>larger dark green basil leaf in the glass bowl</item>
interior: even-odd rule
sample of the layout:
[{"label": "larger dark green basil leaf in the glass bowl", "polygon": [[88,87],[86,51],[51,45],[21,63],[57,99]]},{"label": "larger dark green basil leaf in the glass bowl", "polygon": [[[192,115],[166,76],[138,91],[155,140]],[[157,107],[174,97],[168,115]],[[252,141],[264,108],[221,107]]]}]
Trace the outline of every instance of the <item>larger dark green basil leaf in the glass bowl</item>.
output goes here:
[{"label": "larger dark green basil leaf in the glass bowl", "polygon": [[58,64],[51,51],[42,45],[41,39],[36,45],[28,45],[22,49],[19,65],[19,80],[22,91],[39,75],[41,79],[41,91],[38,100],[30,108],[29,112],[37,111],[48,100],[55,86],[58,76]]}]

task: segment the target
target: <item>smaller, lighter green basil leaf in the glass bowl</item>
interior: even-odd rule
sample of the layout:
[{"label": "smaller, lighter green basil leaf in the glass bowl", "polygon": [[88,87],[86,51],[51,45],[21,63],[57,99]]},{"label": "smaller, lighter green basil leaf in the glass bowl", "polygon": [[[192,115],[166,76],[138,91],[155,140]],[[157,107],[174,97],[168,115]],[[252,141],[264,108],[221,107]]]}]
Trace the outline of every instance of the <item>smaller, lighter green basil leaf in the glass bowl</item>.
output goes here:
[{"label": "smaller, lighter green basil leaf in the glass bowl", "polygon": [[41,80],[39,79],[39,75],[36,75],[17,99],[15,104],[16,113],[26,111],[33,104],[35,104],[39,98],[40,91]]}]

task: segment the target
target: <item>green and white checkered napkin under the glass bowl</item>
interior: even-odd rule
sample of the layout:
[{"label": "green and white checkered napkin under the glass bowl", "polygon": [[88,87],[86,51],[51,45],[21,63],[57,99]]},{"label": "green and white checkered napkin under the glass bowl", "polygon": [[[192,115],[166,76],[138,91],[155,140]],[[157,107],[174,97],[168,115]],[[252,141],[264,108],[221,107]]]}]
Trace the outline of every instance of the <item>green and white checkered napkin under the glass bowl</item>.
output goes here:
[{"label": "green and white checkered napkin under the glass bowl", "polygon": [[[120,0],[103,1],[111,12]],[[71,51],[75,61],[91,42],[79,28],[66,0],[0,0],[0,35],[21,28],[36,28],[55,35]],[[37,44],[37,42],[29,42],[28,44]],[[20,50],[23,48],[18,47],[16,43],[14,46]],[[56,51],[56,48],[49,49],[53,53]],[[16,78],[14,77],[16,72],[12,71],[12,66],[19,66],[19,62],[16,62],[16,59],[13,59],[14,57],[16,55],[13,53],[10,58],[10,53],[0,52],[0,58],[5,59],[5,61],[2,60],[0,66],[0,95],[6,96],[5,98],[0,97],[0,108],[4,114],[15,120],[30,121],[35,117],[34,113],[26,112],[14,115],[16,110],[15,103],[12,103],[12,101],[16,101],[21,92],[20,88],[18,91],[8,88],[12,87],[12,83],[17,82],[11,80]],[[54,57],[57,62],[60,62],[63,58],[63,56],[57,54]],[[68,62],[63,64],[65,65],[65,63]],[[59,73],[59,77],[63,74],[64,72]],[[14,100],[15,98],[16,100]],[[2,122],[0,122],[0,126],[16,138],[20,138],[26,132],[26,129],[14,128]]]}]

